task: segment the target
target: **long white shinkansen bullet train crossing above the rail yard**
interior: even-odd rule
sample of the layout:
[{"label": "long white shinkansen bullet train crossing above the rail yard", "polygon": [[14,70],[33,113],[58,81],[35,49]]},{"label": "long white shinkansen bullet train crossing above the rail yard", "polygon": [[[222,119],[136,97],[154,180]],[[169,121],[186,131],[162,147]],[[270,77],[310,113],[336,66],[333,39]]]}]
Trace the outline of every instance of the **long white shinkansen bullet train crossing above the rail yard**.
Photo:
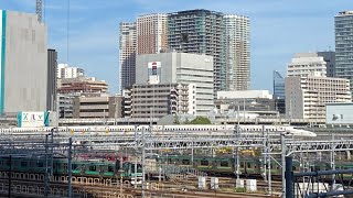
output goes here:
[{"label": "long white shinkansen bullet train crossing above the rail yard", "polygon": [[[135,132],[141,132],[142,129],[149,131],[149,125],[81,125],[81,127],[60,127],[58,133],[72,132],[75,133],[95,133],[99,134],[101,132],[105,133],[120,133],[120,134],[133,134]],[[185,133],[196,133],[196,134],[214,134],[214,135],[226,135],[233,134],[236,129],[239,129],[242,134],[253,134],[253,133],[261,133],[263,131],[268,133],[269,135],[279,135],[280,133],[286,133],[288,135],[297,136],[297,138],[313,138],[317,136],[315,133],[306,131],[300,128],[291,127],[291,125],[225,125],[225,124],[180,124],[180,125],[152,125],[152,133],[164,133],[172,134],[174,132],[185,132]],[[9,129],[0,129],[0,133],[12,133],[12,134],[43,134],[50,132],[51,130],[55,130],[53,127],[46,128],[9,128]],[[121,133],[122,132],[122,133]]]}]

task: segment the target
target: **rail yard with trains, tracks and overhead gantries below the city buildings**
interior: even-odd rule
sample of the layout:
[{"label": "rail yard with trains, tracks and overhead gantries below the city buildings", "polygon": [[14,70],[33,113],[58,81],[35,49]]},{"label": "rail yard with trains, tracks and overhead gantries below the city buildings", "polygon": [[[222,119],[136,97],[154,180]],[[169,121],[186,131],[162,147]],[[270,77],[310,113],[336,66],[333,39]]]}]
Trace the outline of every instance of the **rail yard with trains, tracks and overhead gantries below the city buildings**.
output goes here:
[{"label": "rail yard with trains, tracks and overhead gantries below the city buildings", "polygon": [[[4,197],[278,197],[285,194],[284,156],[293,156],[293,173],[353,168],[349,134],[293,127],[12,128],[0,133]],[[335,182],[350,186],[351,175]],[[332,176],[315,183],[330,184]]]}]

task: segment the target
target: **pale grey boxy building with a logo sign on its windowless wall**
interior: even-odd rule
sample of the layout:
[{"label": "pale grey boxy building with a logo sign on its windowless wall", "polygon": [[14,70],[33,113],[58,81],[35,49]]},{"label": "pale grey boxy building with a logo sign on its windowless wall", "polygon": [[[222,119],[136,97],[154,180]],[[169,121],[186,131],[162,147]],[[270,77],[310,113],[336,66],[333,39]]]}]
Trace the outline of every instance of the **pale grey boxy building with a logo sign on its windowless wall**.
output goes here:
[{"label": "pale grey boxy building with a logo sign on its windowless wall", "polygon": [[161,53],[138,55],[137,85],[196,86],[196,116],[205,116],[213,109],[213,57],[189,53]]}]

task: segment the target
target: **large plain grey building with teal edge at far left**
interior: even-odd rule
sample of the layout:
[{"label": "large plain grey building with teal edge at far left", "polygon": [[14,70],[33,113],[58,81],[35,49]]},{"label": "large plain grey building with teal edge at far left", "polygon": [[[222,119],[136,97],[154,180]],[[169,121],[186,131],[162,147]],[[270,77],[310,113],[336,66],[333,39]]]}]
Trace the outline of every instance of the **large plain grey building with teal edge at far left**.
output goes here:
[{"label": "large plain grey building with teal edge at far left", "polygon": [[0,10],[0,113],[47,110],[46,26]]}]

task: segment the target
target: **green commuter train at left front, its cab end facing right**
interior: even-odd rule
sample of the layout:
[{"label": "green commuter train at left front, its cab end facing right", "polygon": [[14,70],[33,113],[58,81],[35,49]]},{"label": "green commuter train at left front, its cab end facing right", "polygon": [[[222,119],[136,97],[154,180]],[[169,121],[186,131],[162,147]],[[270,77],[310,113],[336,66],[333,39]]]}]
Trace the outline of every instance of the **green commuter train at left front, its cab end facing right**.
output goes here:
[{"label": "green commuter train at left front, its cab end facing right", "polygon": [[[28,173],[28,174],[45,174],[46,164],[51,164],[51,160],[44,157],[12,157],[11,166],[9,157],[0,157],[0,172],[13,173]],[[122,164],[122,166],[121,166]],[[53,160],[53,175],[54,176],[67,176],[67,160],[54,158]],[[50,166],[47,168],[51,172]],[[135,175],[135,164],[130,162],[101,162],[97,161],[72,161],[72,175],[85,176],[94,178],[110,178],[132,180],[135,177],[138,180],[142,179],[142,166],[137,165],[137,175]]]}]

